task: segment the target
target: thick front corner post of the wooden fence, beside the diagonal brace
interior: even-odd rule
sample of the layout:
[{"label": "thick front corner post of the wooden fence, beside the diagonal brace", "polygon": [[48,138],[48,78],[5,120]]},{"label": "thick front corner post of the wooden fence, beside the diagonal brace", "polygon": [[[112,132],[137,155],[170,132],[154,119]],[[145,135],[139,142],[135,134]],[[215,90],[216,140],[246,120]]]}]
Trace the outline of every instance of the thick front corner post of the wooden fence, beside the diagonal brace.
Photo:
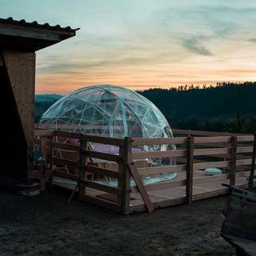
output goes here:
[{"label": "thick front corner post of the wooden fence, beside the diagonal brace", "polygon": [[118,179],[118,205],[121,206],[121,213],[126,215],[130,214],[130,171],[128,164],[132,149],[131,142],[131,138],[126,137],[124,138],[124,145],[119,147],[122,162],[118,163],[118,172],[122,174],[122,178]]}]

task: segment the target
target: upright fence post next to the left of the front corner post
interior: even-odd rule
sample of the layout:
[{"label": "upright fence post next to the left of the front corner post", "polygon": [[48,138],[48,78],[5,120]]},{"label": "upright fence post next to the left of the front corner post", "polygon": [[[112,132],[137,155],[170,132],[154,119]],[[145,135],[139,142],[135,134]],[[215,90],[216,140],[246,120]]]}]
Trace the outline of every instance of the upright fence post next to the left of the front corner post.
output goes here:
[{"label": "upright fence post next to the left of the front corner post", "polygon": [[85,166],[87,164],[87,157],[85,150],[88,148],[88,142],[86,142],[81,135],[80,138],[80,148],[79,148],[79,181],[78,181],[78,199],[81,199],[82,196],[86,193],[85,183],[82,182],[85,180]]}]

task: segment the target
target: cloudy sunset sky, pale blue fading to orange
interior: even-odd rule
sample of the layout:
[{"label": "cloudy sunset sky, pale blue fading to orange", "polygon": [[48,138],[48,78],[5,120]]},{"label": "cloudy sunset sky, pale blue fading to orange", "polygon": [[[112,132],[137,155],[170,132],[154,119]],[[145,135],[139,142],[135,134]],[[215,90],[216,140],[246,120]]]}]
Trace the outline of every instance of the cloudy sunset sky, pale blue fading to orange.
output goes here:
[{"label": "cloudy sunset sky, pale blue fading to orange", "polygon": [[256,80],[256,1],[0,0],[0,17],[80,27],[37,53],[37,93]]}]

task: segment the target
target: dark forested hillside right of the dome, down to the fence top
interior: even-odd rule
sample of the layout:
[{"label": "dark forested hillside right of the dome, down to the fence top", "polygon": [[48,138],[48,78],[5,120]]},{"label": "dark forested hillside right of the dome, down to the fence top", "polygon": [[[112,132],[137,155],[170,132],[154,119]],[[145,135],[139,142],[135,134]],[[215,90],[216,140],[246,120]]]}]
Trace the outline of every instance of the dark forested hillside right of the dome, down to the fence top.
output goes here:
[{"label": "dark forested hillside right of the dome, down to the fence top", "polygon": [[154,88],[138,93],[154,102],[175,128],[256,131],[256,82]]}]

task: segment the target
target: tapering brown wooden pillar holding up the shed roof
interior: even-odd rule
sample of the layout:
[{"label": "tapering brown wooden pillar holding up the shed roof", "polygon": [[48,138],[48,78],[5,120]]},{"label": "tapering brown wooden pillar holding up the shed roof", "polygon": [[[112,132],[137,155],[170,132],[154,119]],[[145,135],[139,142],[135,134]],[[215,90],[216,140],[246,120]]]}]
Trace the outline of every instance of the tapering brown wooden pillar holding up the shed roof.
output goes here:
[{"label": "tapering brown wooden pillar holding up the shed roof", "polygon": [[[22,134],[20,138],[15,139],[20,141],[25,139],[18,150],[26,150],[26,174],[23,178],[27,178],[33,171],[35,54],[3,50],[2,60],[10,81],[10,94],[14,97],[13,104],[18,114],[17,123],[21,125],[17,126],[16,130],[13,130],[13,127],[7,130],[9,134],[7,137]],[[22,151],[18,153],[17,158],[20,157],[19,154],[22,154]],[[11,155],[8,155],[8,158],[11,161]],[[10,165],[13,163],[11,162]],[[18,173],[15,176],[13,178],[21,178]]]}]

